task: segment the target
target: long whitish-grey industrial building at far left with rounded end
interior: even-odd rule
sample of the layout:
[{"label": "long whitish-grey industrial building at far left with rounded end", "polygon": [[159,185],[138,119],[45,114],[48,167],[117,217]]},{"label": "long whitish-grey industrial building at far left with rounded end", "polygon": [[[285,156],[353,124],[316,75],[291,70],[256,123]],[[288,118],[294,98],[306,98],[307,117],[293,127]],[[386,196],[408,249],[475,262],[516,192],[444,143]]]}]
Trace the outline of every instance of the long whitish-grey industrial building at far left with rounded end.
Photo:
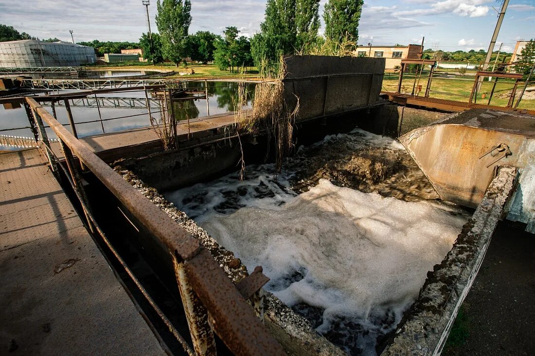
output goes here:
[{"label": "long whitish-grey industrial building at far left with rounded end", "polygon": [[95,63],[93,47],[68,42],[0,42],[0,67],[73,67]]}]

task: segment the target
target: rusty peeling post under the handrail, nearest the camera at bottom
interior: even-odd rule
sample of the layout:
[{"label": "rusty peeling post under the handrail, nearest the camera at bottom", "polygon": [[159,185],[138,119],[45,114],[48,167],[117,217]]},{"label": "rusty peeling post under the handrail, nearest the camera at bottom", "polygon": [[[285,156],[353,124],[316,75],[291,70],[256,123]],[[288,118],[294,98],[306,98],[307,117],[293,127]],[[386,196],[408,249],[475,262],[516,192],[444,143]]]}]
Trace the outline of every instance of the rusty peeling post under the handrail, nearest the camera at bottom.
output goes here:
[{"label": "rusty peeling post under the handrail, nearest the camera at bottom", "polygon": [[208,311],[188,283],[184,263],[178,262],[177,257],[173,256],[173,265],[189,333],[192,336],[193,349],[197,355],[216,355],[216,342],[208,322]]}]

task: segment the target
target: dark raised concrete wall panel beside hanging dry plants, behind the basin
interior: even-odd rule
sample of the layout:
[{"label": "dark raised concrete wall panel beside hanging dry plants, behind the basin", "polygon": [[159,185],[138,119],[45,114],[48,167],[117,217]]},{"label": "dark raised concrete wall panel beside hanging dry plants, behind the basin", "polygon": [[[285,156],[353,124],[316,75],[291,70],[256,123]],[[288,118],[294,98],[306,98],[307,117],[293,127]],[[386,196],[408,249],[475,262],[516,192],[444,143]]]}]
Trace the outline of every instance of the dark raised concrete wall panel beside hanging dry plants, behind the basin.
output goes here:
[{"label": "dark raised concrete wall panel beside hanging dry plants, behind the basin", "polygon": [[379,102],[385,72],[383,58],[290,56],[285,58],[285,99],[299,118],[342,114]]}]

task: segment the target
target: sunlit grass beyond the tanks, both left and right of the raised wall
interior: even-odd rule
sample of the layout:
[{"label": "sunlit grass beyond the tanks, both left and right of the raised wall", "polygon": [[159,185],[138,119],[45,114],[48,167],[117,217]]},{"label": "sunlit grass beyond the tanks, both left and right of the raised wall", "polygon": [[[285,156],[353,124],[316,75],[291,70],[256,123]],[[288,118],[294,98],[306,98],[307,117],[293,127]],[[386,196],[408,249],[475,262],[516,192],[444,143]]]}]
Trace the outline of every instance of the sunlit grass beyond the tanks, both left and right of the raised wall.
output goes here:
[{"label": "sunlit grass beyond the tanks, both left and right of the raised wall", "polygon": [[[131,63],[131,64],[118,64],[111,66],[91,66],[89,68],[95,69],[123,69],[123,68],[139,68],[140,70],[150,70],[150,69],[164,69],[169,71],[175,71],[176,74],[167,78],[257,78],[258,71],[255,67],[249,67],[249,71],[246,73],[238,73],[236,71],[221,71],[215,65],[199,65],[199,64],[188,64],[187,68],[185,67],[176,67],[174,64],[164,64],[164,65],[150,65],[147,63]],[[191,71],[195,74],[189,74]],[[442,69],[440,69],[442,72]],[[470,91],[472,90],[474,76],[472,73],[467,73],[467,75],[455,75],[455,72],[446,71],[447,73],[441,74],[437,73],[433,78],[431,84],[431,93],[430,96],[440,99],[450,99],[467,102],[470,97]],[[187,74],[186,74],[187,73]],[[181,75],[182,74],[182,75]],[[472,74],[472,75],[471,75]],[[427,85],[426,76],[429,75],[429,72],[424,71],[422,73],[422,78],[419,80],[416,79],[416,85],[422,86],[422,93],[424,95],[425,87]],[[442,76],[443,75],[443,76]],[[447,75],[447,77],[446,77]],[[395,91],[398,88],[398,78],[399,74],[397,73],[385,73],[383,80],[383,88],[385,91]],[[402,91],[412,92],[412,85],[414,84],[415,75],[414,74],[405,74],[403,75],[403,88]],[[521,83],[523,84],[523,83]],[[482,90],[478,92],[476,102],[479,104],[487,104],[488,97],[492,90],[493,82],[489,82],[488,79],[485,79],[483,82]],[[494,90],[494,95],[491,101],[491,105],[496,106],[506,106],[508,102],[508,94],[513,89],[514,81],[507,79],[500,79],[496,88]],[[517,96],[522,90],[522,85],[518,86]],[[485,96],[485,98],[483,97]],[[515,102],[516,102],[515,98]],[[525,100],[522,99],[519,109],[529,109],[535,110],[535,100]]]}]

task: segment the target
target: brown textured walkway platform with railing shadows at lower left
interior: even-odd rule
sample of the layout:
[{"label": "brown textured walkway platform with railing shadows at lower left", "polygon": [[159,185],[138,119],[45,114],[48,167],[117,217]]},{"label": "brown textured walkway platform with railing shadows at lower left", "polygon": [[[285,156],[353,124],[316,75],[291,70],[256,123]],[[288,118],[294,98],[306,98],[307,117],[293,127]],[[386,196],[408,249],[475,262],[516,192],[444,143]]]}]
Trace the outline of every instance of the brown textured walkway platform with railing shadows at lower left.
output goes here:
[{"label": "brown textured walkway platform with railing shadows at lower left", "polygon": [[38,149],[0,154],[0,355],[163,355]]}]

